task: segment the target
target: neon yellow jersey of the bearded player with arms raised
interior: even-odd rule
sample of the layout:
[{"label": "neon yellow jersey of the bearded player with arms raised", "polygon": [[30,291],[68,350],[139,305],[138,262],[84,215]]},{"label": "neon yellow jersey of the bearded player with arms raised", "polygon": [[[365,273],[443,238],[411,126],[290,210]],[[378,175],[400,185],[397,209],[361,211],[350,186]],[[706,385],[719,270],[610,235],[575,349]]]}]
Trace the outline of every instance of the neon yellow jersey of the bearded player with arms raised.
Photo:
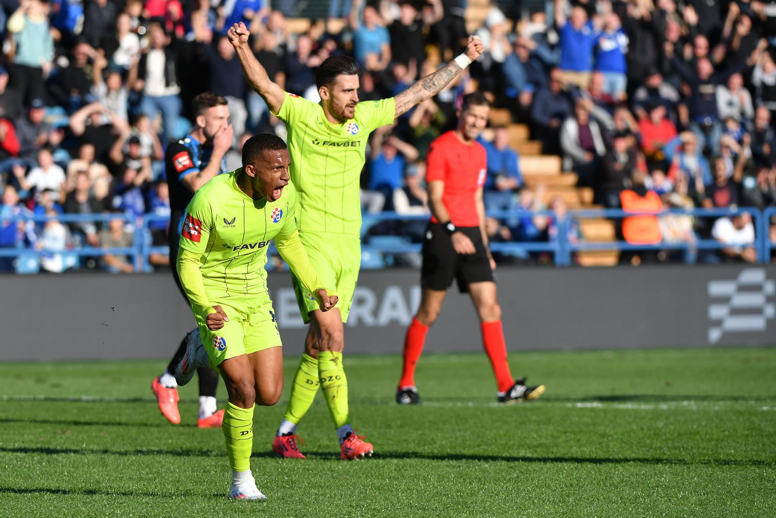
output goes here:
[{"label": "neon yellow jersey of the bearded player with arms raised", "polygon": [[393,123],[393,97],[355,105],[355,115],[332,124],[320,104],[286,92],[279,117],[288,129],[291,179],[299,191],[300,234],[325,232],[359,236],[359,179],[369,134]]}]

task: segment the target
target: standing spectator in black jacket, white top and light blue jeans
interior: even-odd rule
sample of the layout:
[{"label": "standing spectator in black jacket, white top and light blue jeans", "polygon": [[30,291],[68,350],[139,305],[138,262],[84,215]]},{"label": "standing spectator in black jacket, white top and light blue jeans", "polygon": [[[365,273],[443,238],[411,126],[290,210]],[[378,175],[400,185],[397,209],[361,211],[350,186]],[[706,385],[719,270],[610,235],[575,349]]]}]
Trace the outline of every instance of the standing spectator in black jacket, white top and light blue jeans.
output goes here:
[{"label": "standing spectator in black jacket, white top and light blue jeans", "polygon": [[[150,45],[140,55],[137,64],[137,79],[130,72],[127,86],[143,92],[140,110],[151,120],[161,112],[162,134],[165,141],[175,137],[175,125],[181,113],[181,99],[178,94],[178,40],[171,40],[159,23],[151,23],[148,28]],[[133,68],[133,71],[135,69]]]}]

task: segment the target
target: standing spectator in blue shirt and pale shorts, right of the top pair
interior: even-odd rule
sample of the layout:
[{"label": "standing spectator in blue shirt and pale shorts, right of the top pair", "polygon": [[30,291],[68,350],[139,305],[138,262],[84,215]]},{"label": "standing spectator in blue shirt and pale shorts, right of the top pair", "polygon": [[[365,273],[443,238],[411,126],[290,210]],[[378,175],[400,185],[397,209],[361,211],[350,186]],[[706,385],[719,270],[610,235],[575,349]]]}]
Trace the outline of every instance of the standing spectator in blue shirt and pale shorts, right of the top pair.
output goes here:
[{"label": "standing spectator in blue shirt and pale shorts, right of the top pair", "polygon": [[598,37],[595,48],[595,69],[604,74],[604,92],[616,101],[625,99],[628,85],[626,73],[628,64],[628,35],[622,30],[620,17],[614,12],[604,19],[604,30]]}]

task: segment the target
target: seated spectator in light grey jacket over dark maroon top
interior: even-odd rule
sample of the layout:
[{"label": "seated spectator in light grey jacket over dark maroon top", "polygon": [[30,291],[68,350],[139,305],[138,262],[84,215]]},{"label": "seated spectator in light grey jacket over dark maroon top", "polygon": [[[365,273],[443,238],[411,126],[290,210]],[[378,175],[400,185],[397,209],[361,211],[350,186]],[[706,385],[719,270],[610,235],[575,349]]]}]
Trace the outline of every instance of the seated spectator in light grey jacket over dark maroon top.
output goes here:
[{"label": "seated spectator in light grey jacket over dark maroon top", "polygon": [[593,103],[579,98],[574,115],[563,122],[560,148],[563,150],[563,170],[576,172],[580,186],[595,186],[598,163],[606,154],[604,134],[591,117]]}]

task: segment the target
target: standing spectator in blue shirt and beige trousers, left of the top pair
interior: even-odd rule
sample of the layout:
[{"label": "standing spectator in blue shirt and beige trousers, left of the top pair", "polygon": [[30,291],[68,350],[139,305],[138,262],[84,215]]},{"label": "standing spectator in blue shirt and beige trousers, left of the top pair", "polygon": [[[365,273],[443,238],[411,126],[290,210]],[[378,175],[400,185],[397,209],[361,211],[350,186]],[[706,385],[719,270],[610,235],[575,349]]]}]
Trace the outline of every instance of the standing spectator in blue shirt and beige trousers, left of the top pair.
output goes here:
[{"label": "standing spectator in blue shirt and beige trousers, left of the top pair", "polygon": [[566,82],[586,89],[593,71],[593,49],[598,31],[587,21],[587,12],[579,5],[566,19],[566,0],[555,0],[555,23],[560,37],[560,62]]}]

